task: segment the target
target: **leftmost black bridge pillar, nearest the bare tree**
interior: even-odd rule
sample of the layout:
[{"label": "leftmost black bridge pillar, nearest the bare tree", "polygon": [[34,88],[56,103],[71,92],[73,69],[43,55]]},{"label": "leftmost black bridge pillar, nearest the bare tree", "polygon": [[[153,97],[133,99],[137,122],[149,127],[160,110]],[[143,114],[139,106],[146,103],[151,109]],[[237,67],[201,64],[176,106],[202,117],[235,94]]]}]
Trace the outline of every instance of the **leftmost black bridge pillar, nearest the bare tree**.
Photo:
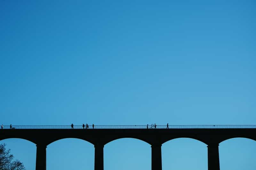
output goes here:
[{"label": "leftmost black bridge pillar, nearest the bare tree", "polygon": [[36,145],[36,170],[46,170],[46,145]]}]

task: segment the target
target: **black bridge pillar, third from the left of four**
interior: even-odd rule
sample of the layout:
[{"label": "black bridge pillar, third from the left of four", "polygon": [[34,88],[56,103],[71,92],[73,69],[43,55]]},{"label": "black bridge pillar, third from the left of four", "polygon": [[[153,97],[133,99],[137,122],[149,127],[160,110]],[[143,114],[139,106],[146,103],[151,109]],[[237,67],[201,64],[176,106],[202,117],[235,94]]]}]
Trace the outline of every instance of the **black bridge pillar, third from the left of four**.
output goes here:
[{"label": "black bridge pillar, third from the left of four", "polygon": [[151,146],[151,170],[162,170],[162,144]]}]

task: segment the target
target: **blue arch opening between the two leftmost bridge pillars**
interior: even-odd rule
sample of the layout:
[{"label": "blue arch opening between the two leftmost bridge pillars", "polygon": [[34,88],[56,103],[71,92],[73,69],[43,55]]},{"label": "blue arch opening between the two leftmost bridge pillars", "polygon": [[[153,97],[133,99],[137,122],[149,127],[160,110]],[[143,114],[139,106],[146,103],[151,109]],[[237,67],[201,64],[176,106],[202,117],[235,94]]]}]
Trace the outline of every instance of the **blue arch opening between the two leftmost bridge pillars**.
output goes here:
[{"label": "blue arch opening between the two leftmost bridge pillars", "polygon": [[47,169],[94,169],[94,146],[77,138],[62,138],[47,145]]}]

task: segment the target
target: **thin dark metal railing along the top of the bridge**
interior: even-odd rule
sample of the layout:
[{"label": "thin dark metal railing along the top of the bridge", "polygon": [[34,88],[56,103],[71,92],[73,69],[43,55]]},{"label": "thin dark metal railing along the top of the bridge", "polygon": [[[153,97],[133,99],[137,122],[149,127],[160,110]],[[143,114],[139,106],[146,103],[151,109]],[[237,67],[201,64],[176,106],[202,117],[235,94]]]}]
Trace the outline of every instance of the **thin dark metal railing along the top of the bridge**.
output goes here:
[{"label": "thin dark metal railing along the top of the bridge", "polygon": [[[253,129],[256,125],[169,125],[169,129]],[[4,125],[2,129],[72,129],[71,125]],[[73,129],[87,129],[74,125]],[[88,125],[88,129],[167,129],[167,125]]]}]

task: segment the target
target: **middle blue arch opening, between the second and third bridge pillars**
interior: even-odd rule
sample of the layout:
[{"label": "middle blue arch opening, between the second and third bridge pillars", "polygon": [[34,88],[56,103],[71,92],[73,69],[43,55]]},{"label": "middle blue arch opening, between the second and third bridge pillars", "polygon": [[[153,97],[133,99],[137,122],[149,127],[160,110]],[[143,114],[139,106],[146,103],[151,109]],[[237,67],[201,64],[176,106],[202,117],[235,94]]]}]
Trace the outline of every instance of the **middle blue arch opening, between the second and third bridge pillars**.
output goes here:
[{"label": "middle blue arch opening, between the second and third bridge pillars", "polygon": [[104,147],[104,170],[151,169],[150,144],[135,138],[119,138]]}]

